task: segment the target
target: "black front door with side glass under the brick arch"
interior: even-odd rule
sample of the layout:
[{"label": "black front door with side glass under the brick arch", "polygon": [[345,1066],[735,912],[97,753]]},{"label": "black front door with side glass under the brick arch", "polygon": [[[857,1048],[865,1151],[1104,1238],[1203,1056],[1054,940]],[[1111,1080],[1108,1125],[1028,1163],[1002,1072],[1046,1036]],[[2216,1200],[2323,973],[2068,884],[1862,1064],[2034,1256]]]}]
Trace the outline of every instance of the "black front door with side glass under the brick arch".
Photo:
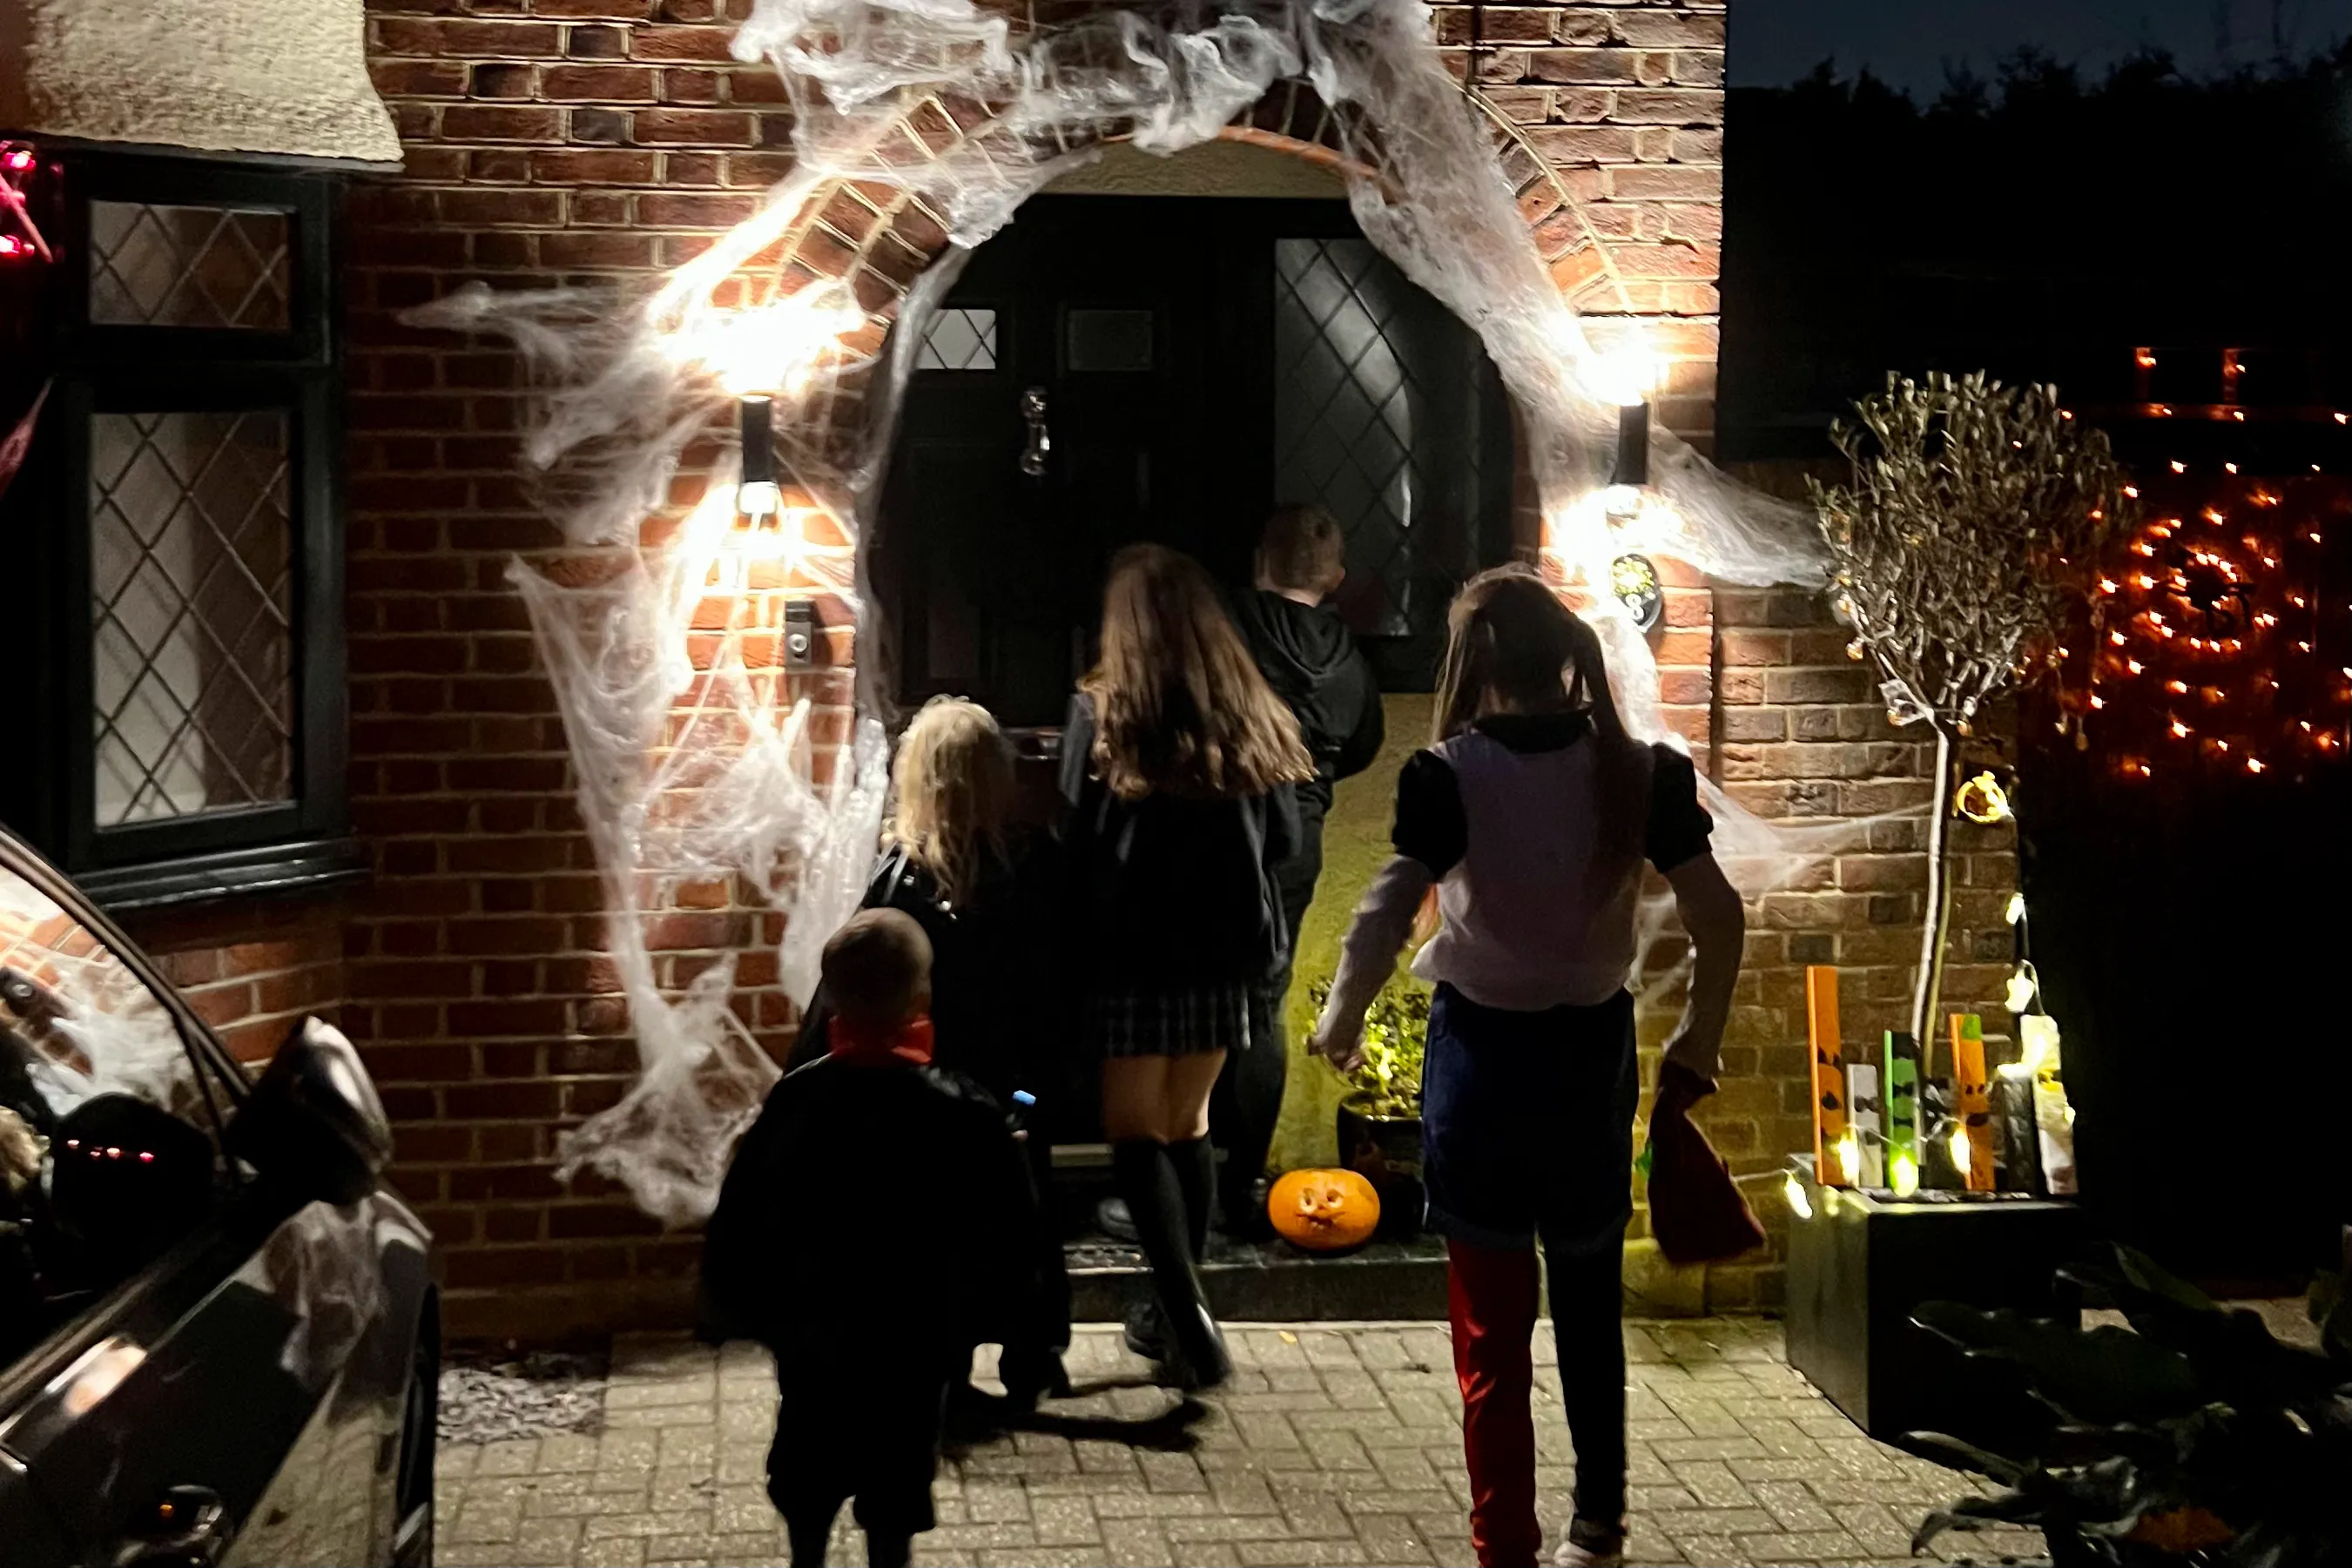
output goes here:
[{"label": "black front door with side glass under the brick arch", "polygon": [[1508,487],[1491,367],[1345,202],[1037,197],[917,350],[873,548],[891,684],[1058,724],[1110,557],[1152,541],[1247,581],[1277,501],[1341,512],[1343,611],[1425,654],[1508,545]]}]

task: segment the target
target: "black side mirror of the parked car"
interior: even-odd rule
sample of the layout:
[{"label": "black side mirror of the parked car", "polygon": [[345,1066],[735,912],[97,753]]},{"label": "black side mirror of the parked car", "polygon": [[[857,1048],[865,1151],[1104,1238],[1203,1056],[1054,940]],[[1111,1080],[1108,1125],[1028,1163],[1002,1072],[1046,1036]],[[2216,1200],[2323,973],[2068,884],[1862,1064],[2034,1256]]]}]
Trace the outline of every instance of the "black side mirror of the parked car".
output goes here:
[{"label": "black side mirror of the parked car", "polygon": [[303,1018],[228,1121],[223,1143],[261,1180],[341,1206],[376,1190],[393,1159],[393,1124],[350,1039]]}]

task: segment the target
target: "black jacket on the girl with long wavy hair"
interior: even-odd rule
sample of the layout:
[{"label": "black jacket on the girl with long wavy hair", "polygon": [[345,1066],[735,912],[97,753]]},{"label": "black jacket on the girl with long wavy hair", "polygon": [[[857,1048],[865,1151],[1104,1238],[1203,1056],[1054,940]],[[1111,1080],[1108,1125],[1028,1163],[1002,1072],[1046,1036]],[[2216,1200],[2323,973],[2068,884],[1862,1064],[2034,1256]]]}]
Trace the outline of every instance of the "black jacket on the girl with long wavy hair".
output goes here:
[{"label": "black jacket on the girl with long wavy hair", "polygon": [[1120,799],[1094,776],[1094,703],[1061,733],[1068,931],[1082,983],[1258,985],[1289,961],[1275,867],[1298,853],[1291,785],[1251,799]]}]

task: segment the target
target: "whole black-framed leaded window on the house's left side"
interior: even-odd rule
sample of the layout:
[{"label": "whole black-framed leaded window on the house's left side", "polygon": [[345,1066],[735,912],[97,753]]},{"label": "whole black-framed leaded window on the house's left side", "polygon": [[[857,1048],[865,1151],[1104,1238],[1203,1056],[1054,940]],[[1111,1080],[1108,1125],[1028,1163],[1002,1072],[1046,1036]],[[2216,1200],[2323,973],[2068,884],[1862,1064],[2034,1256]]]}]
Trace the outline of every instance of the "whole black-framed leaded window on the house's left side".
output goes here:
[{"label": "whole black-framed leaded window on the house's left side", "polygon": [[115,910],[350,879],[341,179],[103,150],[42,179],[54,308],[0,357],[0,404],[45,388],[0,489],[0,823]]}]

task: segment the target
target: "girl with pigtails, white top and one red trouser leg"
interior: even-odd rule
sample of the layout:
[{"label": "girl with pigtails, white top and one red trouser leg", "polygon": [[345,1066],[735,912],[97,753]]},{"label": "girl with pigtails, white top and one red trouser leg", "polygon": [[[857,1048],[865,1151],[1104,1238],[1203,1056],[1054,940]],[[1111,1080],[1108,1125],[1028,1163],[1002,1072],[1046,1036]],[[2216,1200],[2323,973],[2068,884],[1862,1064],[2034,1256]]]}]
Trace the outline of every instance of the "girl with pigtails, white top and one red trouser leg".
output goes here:
[{"label": "girl with pigtails, white top and one red trouser leg", "polygon": [[1529,1568],[1536,1241],[1550,1262],[1576,1516],[1555,1561],[1625,1552],[1625,1340],[1618,1326],[1632,1121],[1642,863],[1665,872],[1696,947],[1661,1086],[1715,1088],[1743,914],[1708,851],[1691,759],[1625,736],[1599,637],[1531,571],[1463,588],[1449,616],[1435,745],[1397,778],[1395,858],[1357,905],[1315,1048],[1362,1060],[1364,1009],[1430,889],[1442,926],[1414,959],[1437,983],[1423,1067],[1428,1222],[1446,1237],[1470,1540]]}]

